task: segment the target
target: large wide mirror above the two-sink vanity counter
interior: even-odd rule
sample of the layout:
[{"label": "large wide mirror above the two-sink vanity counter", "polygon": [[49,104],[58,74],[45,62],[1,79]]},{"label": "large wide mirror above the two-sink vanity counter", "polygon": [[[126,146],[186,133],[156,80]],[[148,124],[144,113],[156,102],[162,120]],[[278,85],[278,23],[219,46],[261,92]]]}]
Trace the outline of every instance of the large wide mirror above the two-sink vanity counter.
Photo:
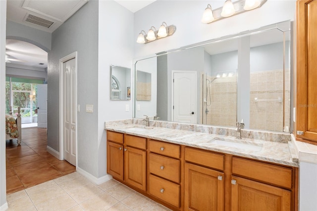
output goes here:
[{"label": "large wide mirror above the two-sink vanity counter", "polygon": [[290,132],[291,45],[285,21],[136,60],[152,98],[134,117]]}]

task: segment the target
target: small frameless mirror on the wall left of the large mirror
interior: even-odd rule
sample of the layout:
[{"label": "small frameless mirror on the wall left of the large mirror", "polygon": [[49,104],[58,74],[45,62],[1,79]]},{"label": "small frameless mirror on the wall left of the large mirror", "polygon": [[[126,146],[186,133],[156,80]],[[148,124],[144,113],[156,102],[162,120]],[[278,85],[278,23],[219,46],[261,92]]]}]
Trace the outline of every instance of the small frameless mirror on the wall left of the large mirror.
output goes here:
[{"label": "small frameless mirror on the wall left of the large mirror", "polygon": [[131,69],[120,66],[110,66],[110,99],[131,100]]}]

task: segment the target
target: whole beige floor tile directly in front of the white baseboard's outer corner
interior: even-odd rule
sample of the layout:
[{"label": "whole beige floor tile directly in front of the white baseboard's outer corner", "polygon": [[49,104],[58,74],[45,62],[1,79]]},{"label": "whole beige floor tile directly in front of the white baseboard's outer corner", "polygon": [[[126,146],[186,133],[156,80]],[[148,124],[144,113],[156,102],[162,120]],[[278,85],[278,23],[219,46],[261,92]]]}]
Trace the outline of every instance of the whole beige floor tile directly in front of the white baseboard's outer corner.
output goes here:
[{"label": "whole beige floor tile directly in front of the white baseboard's outer corner", "polygon": [[67,194],[71,198],[73,198],[78,204],[94,198],[95,196],[103,193],[104,191],[100,189],[99,187],[95,186],[92,183],[87,183],[84,186],[80,186],[77,189],[71,189],[70,191],[66,191]]}]

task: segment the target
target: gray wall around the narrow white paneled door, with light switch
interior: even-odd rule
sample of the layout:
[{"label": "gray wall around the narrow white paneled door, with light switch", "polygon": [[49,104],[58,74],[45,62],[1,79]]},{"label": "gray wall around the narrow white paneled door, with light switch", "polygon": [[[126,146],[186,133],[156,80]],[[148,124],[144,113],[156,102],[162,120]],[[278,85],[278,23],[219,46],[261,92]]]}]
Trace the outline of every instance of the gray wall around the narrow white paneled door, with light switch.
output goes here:
[{"label": "gray wall around the narrow white paneled door, with light switch", "polygon": [[[59,151],[59,59],[77,51],[78,167],[98,176],[98,1],[88,1],[52,34],[48,66],[48,146]],[[87,113],[87,104],[94,112]],[[62,153],[62,152],[61,152]]]}]

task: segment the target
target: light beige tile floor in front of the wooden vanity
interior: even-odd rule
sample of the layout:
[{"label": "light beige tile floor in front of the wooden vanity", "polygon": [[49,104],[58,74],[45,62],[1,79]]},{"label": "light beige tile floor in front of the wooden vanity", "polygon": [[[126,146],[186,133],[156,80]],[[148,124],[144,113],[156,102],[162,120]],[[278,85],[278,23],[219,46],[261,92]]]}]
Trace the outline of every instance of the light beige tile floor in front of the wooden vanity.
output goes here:
[{"label": "light beige tile floor in front of the wooden vanity", "polygon": [[125,185],[91,183],[77,172],[7,195],[7,211],[169,211]]}]

